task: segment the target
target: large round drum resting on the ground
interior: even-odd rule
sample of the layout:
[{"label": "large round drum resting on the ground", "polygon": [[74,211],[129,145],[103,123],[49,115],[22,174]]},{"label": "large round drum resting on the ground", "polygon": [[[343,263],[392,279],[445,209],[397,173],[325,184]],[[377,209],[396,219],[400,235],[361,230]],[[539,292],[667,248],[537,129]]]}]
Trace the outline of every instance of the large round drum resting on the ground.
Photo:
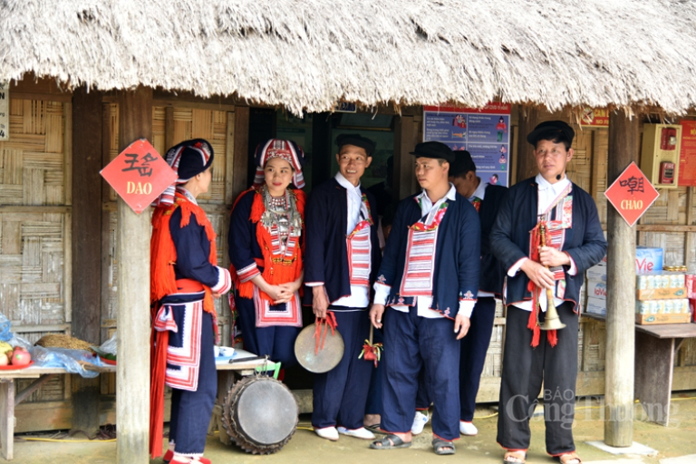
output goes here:
[{"label": "large round drum resting on the ground", "polygon": [[227,391],[222,423],[239,448],[252,454],[272,454],[290,441],[299,418],[295,395],[282,382],[252,375]]}]

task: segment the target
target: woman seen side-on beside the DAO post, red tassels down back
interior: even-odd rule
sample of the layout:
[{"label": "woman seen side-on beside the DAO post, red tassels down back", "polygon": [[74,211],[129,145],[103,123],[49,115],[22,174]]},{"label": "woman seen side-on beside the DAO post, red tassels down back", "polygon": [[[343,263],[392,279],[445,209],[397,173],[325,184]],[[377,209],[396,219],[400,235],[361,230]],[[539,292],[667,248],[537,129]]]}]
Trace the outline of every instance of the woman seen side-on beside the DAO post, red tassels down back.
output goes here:
[{"label": "woman seen side-on beside the DAO post, red tassels down back", "polygon": [[232,286],[227,269],[217,266],[216,234],[196,201],[212,179],[213,149],[206,140],[187,140],[169,149],[165,160],[178,179],[158,198],[152,216],[150,454],[154,459],[162,451],[167,384],[173,390],[164,461],[209,464],[202,456],[218,392],[213,298]]}]

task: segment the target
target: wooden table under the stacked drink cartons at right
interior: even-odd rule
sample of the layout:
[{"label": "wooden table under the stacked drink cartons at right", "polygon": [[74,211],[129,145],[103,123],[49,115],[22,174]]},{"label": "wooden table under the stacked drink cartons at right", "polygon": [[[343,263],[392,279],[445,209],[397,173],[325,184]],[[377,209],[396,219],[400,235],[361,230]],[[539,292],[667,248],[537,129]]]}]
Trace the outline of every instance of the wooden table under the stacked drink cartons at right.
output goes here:
[{"label": "wooden table under the stacked drink cartons at right", "polygon": [[[601,314],[582,315],[606,320]],[[696,324],[635,324],[634,392],[648,420],[669,425],[674,356],[684,340],[693,337]]]}]

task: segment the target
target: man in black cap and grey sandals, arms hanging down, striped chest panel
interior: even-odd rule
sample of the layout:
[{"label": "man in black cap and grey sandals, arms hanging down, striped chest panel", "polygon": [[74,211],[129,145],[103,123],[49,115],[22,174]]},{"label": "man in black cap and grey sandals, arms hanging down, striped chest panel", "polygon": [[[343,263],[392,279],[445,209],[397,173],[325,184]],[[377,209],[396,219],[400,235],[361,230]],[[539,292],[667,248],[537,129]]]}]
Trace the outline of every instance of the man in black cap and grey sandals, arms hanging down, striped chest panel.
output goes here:
[{"label": "man in black cap and grey sandals, arms hanging down, striped chest panel", "polygon": [[411,154],[423,191],[399,204],[370,312],[377,328],[386,317],[382,430],[389,433],[370,447],[411,446],[424,367],[434,403],[432,445],[437,454],[453,454],[452,441],[459,439],[459,340],[476,304],[480,226],[476,209],[448,181],[452,150],[429,141]]}]

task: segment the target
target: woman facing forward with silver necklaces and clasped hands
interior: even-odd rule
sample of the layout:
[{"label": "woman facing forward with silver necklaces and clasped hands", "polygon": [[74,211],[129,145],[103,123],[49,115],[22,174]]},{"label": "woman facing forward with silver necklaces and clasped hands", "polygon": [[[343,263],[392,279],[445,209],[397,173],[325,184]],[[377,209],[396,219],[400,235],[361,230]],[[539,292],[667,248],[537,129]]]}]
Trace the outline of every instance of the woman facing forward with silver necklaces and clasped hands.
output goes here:
[{"label": "woman facing forward with silver necklaces and clasped hands", "polygon": [[304,153],[272,139],[255,160],[254,185],[237,198],[228,234],[237,324],[247,351],[288,367],[302,328]]}]

